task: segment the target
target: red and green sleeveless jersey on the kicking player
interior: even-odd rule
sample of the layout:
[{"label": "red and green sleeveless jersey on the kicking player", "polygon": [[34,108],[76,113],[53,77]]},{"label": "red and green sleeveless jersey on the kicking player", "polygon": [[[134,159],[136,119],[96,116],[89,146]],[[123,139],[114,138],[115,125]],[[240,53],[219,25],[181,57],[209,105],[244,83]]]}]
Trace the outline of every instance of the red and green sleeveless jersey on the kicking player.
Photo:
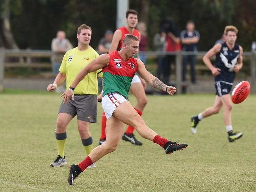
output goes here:
[{"label": "red and green sleeveless jersey on the kicking player", "polygon": [[132,57],[124,61],[117,51],[109,53],[109,64],[102,68],[104,95],[119,92],[128,100],[132,78],[137,71],[137,60]]}]

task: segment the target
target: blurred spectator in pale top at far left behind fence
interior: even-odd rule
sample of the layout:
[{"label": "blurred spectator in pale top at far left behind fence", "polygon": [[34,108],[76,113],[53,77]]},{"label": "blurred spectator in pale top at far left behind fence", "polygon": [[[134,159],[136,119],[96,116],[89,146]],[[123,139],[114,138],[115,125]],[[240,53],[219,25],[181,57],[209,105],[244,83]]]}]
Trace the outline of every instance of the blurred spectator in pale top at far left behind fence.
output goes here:
[{"label": "blurred spectator in pale top at far left behind fence", "polygon": [[52,62],[52,72],[54,74],[59,73],[59,67],[61,65],[61,61],[63,59],[63,55],[65,54],[65,52],[73,48],[70,41],[65,37],[66,37],[66,34],[64,31],[58,31],[57,37],[52,39],[52,51],[55,52],[55,54],[52,55],[51,62]]}]

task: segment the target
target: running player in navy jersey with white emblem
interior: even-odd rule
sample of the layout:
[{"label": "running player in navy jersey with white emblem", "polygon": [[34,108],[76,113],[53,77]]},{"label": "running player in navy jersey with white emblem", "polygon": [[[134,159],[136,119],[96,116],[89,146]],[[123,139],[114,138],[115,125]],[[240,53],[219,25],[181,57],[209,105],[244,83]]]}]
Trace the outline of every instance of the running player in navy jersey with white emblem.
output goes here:
[{"label": "running player in navy jersey with white emblem", "polygon": [[[224,106],[224,123],[228,132],[229,142],[233,142],[243,136],[243,133],[233,132],[231,124],[232,102],[229,95],[236,73],[243,66],[243,48],[236,44],[237,32],[236,27],[226,26],[224,30],[226,42],[215,44],[203,57],[205,65],[214,75],[216,98],[212,107],[205,109],[197,116],[191,117],[191,132],[193,134],[197,132],[196,126],[200,120],[219,113],[221,107]],[[216,55],[215,66],[210,61],[213,55]]]}]

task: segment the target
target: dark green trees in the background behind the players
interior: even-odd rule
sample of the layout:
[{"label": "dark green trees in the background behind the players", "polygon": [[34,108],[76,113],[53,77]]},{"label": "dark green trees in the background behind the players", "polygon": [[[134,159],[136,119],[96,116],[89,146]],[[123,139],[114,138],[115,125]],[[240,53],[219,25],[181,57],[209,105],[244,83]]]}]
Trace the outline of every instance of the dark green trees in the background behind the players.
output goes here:
[{"label": "dark green trees in the background behind the players", "polygon": [[[149,48],[152,50],[153,35],[159,30],[160,22],[169,16],[184,30],[187,20],[194,20],[200,32],[199,50],[210,49],[219,39],[226,25],[238,28],[238,40],[245,51],[250,51],[251,42],[256,40],[256,16],[254,0],[148,0]],[[67,38],[76,46],[76,30],[82,23],[93,29],[91,45],[96,48],[106,29],[115,30],[116,0],[4,0],[1,14],[10,5],[11,28],[15,40],[22,49],[50,49],[52,38],[58,30],[64,30]],[[130,8],[139,11],[141,2],[130,0]]]}]

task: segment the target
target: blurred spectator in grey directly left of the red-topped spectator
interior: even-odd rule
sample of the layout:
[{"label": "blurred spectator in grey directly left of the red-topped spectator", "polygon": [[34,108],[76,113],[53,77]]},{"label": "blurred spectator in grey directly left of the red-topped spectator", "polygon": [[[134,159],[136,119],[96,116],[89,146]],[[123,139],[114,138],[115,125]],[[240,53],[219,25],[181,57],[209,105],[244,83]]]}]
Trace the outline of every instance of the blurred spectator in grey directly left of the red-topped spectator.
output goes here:
[{"label": "blurred spectator in grey directly left of the red-topped spectator", "polygon": [[[159,51],[159,52],[165,51],[165,38],[166,38],[165,32],[156,33],[154,35],[153,44],[155,47],[155,51]],[[158,57],[156,57],[156,63],[158,64],[156,77],[159,79],[162,79],[161,74],[163,73],[163,58],[164,58],[163,55],[159,55]]]}]

